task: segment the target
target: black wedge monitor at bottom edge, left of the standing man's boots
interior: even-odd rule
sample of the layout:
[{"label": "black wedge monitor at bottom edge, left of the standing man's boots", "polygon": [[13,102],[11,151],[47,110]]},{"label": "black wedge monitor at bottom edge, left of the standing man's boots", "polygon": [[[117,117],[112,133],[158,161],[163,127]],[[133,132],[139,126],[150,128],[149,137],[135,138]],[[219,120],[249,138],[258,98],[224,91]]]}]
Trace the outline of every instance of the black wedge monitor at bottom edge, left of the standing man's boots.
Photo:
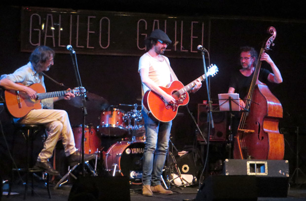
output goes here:
[{"label": "black wedge monitor at bottom edge, left of the standing man's boots", "polygon": [[128,177],[78,177],[68,201],[130,201]]}]

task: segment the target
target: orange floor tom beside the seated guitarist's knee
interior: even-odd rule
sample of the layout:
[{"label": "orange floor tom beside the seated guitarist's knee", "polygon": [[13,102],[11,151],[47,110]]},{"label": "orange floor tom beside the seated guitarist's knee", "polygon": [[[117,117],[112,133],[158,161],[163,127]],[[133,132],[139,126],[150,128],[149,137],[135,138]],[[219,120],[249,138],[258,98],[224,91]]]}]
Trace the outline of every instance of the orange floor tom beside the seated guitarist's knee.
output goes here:
[{"label": "orange floor tom beside the seated guitarist's knee", "polygon": [[[81,150],[82,143],[82,125],[73,126],[72,131],[75,137],[76,148]],[[101,151],[101,139],[97,135],[96,129],[90,125],[84,126],[84,153],[93,154],[96,151]]]}]

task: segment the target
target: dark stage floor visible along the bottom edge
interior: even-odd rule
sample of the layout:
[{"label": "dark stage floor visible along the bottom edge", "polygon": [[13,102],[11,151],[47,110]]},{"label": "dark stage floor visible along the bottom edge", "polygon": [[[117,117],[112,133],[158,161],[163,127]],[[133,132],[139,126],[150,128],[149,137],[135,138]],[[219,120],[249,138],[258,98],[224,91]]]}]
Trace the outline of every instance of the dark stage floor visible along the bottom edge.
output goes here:
[{"label": "dark stage floor visible along the bottom edge", "polygon": [[[63,187],[61,189],[53,189],[54,185],[50,185],[52,198],[49,199],[46,188],[42,182],[35,184],[35,195],[31,195],[31,191],[28,190],[27,201],[68,201],[68,197],[71,190],[71,185]],[[141,195],[141,186],[136,186],[130,189],[130,200],[131,201],[192,201],[196,198],[198,186],[177,188],[172,187],[171,190],[174,192],[173,195],[154,195],[153,197],[144,197]],[[120,189],[115,189],[120,194]],[[21,184],[14,184],[12,192],[15,195],[11,195],[9,198],[2,195],[2,201],[22,201],[24,186]],[[128,199],[127,199],[128,200]],[[87,200],[91,201],[91,200]],[[112,201],[112,198],[109,199]],[[306,185],[290,187],[287,198],[258,198],[258,201],[306,201]]]}]

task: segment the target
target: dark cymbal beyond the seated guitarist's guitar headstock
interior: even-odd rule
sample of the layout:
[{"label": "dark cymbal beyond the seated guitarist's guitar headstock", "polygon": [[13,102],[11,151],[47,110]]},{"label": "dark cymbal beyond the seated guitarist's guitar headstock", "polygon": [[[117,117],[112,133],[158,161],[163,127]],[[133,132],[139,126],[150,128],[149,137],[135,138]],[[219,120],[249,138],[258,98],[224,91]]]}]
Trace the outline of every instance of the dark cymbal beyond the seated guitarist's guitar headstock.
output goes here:
[{"label": "dark cymbal beyond the seated guitarist's guitar headstock", "polygon": [[[76,96],[75,98],[68,101],[68,103],[76,108],[82,107],[82,96]],[[86,108],[87,110],[99,110],[102,111],[103,109],[109,107],[108,101],[94,93],[86,92]]]}]

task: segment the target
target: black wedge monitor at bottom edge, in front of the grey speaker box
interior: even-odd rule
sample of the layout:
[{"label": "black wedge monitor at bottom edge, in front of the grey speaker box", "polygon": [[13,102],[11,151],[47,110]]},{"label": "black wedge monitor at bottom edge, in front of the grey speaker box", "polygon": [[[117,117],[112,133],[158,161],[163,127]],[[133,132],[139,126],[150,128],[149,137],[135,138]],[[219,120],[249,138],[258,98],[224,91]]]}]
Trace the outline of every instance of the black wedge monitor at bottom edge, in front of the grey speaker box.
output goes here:
[{"label": "black wedge monitor at bottom edge, in front of the grey speaker box", "polygon": [[204,180],[195,201],[257,201],[256,178],[211,175]]}]

